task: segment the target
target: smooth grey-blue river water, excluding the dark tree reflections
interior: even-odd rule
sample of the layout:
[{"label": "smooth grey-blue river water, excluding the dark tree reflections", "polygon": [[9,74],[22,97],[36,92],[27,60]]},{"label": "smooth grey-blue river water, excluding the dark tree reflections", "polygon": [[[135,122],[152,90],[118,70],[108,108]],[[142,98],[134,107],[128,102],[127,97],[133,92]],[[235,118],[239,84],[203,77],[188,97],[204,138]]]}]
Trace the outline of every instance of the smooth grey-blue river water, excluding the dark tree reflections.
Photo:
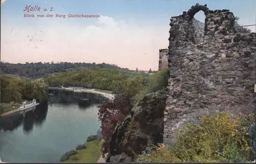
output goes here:
[{"label": "smooth grey-blue river water, excluding the dark tree reflections", "polygon": [[[58,97],[55,96],[58,99]],[[7,162],[59,162],[60,156],[86,142],[100,127],[99,104],[49,103],[5,118],[0,131],[0,155]]]}]

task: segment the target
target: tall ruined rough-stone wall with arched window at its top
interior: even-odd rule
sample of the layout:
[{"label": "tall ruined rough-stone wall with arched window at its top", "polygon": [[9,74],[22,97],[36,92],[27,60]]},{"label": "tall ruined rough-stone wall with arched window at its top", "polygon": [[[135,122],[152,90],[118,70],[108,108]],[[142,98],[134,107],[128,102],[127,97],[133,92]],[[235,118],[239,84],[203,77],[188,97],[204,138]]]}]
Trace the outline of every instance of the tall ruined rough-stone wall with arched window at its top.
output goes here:
[{"label": "tall ruined rough-stone wall with arched window at its top", "polygon": [[[206,16],[205,30],[197,38],[192,20],[200,10]],[[170,19],[164,143],[175,143],[178,128],[197,122],[202,114],[251,112],[256,105],[256,35],[237,33],[233,22],[229,10],[198,4]]]}]

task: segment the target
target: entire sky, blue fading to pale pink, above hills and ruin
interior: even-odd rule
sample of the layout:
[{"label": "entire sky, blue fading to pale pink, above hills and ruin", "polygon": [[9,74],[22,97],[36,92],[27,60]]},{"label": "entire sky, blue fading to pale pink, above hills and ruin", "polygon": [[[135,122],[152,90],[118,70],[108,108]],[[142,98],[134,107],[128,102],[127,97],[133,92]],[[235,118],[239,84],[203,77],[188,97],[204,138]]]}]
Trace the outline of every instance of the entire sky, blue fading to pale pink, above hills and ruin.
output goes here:
[{"label": "entire sky, blue fading to pale pink, above hills and ruin", "polygon": [[[255,0],[7,0],[1,5],[2,60],[107,62],[157,69],[158,51],[168,46],[170,17],[196,3],[207,4],[210,10],[229,9],[241,25],[256,24]],[[26,5],[54,9],[34,14],[101,18],[25,18]],[[199,12],[195,18],[205,17]],[[255,32],[255,26],[250,29]]]}]

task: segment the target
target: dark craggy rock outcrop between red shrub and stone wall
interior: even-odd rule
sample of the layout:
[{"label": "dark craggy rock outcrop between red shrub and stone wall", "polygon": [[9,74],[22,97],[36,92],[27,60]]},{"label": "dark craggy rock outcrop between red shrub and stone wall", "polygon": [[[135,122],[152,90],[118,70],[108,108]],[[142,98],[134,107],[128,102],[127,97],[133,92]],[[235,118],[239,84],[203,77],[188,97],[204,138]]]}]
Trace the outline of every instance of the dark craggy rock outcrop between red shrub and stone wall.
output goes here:
[{"label": "dark craggy rock outcrop between red shrub and stone wall", "polygon": [[163,142],[166,98],[165,90],[160,90],[145,96],[132,109],[134,114],[127,116],[112,135],[107,162],[134,159],[146,147]]}]

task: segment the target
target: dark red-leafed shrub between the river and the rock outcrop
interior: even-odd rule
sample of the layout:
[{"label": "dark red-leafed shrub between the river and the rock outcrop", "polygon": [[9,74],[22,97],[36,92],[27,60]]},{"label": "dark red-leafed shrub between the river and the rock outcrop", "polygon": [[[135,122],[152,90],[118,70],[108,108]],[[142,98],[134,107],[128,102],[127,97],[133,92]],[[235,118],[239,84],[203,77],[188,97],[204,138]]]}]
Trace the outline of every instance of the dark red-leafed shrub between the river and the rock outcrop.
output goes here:
[{"label": "dark red-leafed shrub between the river and the rock outcrop", "polygon": [[101,122],[101,134],[104,139],[103,153],[109,152],[111,136],[118,123],[121,123],[130,113],[130,100],[116,98],[114,101],[102,103],[99,106],[98,118]]}]

